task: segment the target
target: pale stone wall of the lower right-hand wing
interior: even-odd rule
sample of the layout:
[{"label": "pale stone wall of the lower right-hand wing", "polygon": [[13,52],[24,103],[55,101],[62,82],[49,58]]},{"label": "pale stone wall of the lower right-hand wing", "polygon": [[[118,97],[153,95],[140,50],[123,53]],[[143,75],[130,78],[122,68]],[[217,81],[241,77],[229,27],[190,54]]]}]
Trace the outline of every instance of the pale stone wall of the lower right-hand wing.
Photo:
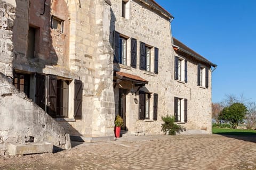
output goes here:
[{"label": "pale stone wall of the lower right-hand wing", "polygon": [[[178,54],[176,54],[179,56]],[[209,88],[197,86],[197,64],[196,60],[187,58],[188,61],[188,82],[183,83],[174,81],[173,97],[171,102],[174,103],[174,97],[188,99],[188,122],[181,124],[190,133],[211,133],[211,103],[212,103],[212,84],[211,70],[209,70]],[[203,65],[204,63],[201,63]],[[174,60],[173,60],[174,65]],[[172,76],[174,79],[174,77]],[[173,111],[174,112],[174,111]],[[193,133],[191,131],[191,133]]]}]

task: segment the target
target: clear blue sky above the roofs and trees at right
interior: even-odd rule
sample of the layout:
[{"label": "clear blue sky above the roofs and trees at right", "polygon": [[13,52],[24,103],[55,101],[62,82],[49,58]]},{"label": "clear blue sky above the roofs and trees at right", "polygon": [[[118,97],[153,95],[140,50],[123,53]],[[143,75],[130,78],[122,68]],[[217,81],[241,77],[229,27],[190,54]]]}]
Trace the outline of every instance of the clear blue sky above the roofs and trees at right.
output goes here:
[{"label": "clear blue sky above the roofs and trees at right", "polygon": [[212,101],[243,94],[256,102],[256,1],[155,1],[174,16],[173,37],[218,65]]}]

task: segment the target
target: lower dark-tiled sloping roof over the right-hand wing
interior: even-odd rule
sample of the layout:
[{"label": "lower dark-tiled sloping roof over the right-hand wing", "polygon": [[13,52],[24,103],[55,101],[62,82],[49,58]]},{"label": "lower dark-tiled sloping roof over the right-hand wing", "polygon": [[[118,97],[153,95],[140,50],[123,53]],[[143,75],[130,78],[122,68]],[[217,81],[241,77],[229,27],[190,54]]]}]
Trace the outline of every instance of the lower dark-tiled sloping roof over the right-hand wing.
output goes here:
[{"label": "lower dark-tiled sloping roof over the right-hand wing", "polygon": [[188,46],[186,46],[185,44],[181,43],[178,39],[173,37],[173,45],[174,46],[178,46],[177,47],[173,47],[175,50],[180,50],[183,53],[186,53],[192,57],[195,57],[197,60],[210,64],[213,67],[217,67],[216,64],[213,64],[212,62],[210,62],[209,60],[207,60],[206,58],[204,58],[202,55],[196,53],[193,49],[189,48]]}]

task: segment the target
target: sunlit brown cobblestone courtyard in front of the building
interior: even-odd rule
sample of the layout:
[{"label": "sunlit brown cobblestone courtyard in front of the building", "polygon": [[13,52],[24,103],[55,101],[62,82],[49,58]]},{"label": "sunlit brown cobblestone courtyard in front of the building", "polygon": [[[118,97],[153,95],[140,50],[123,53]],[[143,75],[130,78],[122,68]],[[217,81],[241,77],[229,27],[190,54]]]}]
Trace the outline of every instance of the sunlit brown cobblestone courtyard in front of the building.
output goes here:
[{"label": "sunlit brown cobblestone courtyard in front of the building", "polygon": [[256,169],[256,137],[139,136],[0,157],[0,169]]}]

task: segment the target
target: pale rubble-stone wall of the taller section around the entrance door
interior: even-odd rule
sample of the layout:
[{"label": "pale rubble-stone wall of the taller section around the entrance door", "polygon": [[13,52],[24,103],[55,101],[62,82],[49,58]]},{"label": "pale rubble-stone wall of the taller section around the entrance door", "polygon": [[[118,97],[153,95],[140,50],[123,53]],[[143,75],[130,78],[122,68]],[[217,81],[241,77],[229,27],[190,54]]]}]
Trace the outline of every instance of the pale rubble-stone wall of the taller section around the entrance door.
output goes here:
[{"label": "pale rubble-stone wall of the taller section around the entrance door", "polygon": [[[140,1],[130,2],[130,19],[121,17],[122,1],[113,0],[112,9],[116,18],[115,30],[127,39],[127,65],[117,64],[115,69],[126,72],[149,81],[141,88],[145,92],[158,94],[158,121],[153,121],[153,94],[150,98],[150,120],[138,120],[139,104],[134,103],[134,98],[139,100],[139,92],[126,97],[126,126],[129,131],[144,131],[146,134],[161,134],[161,116],[173,114],[173,103],[169,102],[173,90],[172,58],[174,55],[170,33],[170,21],[165,16],[158,14],[148,5]],[[137,69],[130,66],[130,38],[137,39]],[[142,71],[140,63],[140,41],[159,49],[158,74],[154,73],[154,48],[151,49],[151,70]],[[121,82],[115,89],[116,114],[118,114],[118,88],[131,89],[132,83]],[[137,90],[138,87],[135,88]]]}]

